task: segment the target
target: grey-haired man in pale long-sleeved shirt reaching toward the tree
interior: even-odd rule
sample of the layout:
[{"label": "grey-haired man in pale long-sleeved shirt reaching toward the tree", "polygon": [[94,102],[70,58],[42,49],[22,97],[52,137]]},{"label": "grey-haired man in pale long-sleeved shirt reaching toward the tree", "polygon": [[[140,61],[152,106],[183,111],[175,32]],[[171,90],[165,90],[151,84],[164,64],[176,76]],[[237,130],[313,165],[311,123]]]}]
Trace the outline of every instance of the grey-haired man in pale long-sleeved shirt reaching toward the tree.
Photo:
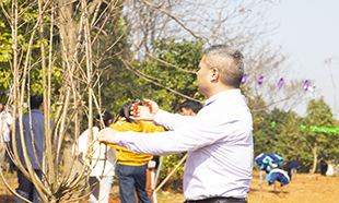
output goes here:
[{"label": "grey-haired man in pale long-sleeved shirt reaching toward the tree", "polygon": [[208,99],[196,117],[139,107],[133,119],[153,121],[167,132],[138,134],[105,129],[102,143],[117,144],[135,153],[170,155],[188,152],[184,171],[187,203],[244,203],[253,169],[253,119],[239,84],[243,53],[226,45],[203,51],[197,72],[198,91]]}]

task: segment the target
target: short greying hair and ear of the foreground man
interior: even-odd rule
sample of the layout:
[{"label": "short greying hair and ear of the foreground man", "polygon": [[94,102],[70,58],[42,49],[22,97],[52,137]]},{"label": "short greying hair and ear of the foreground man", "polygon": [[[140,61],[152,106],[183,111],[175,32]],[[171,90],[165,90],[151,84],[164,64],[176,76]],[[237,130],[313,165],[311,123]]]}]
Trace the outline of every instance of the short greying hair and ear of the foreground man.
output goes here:
[{"label": "short greying hair and ear of the foreground man", "polygon": [[244,75],[243,53],[227,45],[213,45],[203,51],[204,63],[209,69],[217,68],[221,83],[235,88],[239,87]]}]

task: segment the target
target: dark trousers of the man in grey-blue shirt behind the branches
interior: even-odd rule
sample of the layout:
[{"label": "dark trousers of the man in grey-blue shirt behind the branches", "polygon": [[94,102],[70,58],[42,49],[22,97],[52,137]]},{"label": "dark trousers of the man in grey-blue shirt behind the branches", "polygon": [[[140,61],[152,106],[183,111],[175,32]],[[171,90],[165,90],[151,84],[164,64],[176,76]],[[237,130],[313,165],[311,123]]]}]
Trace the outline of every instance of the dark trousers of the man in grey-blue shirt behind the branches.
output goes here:
[{"label": "dark trousers of the man in grey-blue shirt behind the branches", "polygon": [[[36,175],[42,180],[42,170],[35,170]],[[17,170],[17,182],[19,187],[16,188],[16,193],[20,194],[22,198],[30,200],[34,203],[42,202],[37,190],[35,189],[34,184],[22,174],[21,170]],[[14,203],[22,203],[21,199],[15,198]]]}]

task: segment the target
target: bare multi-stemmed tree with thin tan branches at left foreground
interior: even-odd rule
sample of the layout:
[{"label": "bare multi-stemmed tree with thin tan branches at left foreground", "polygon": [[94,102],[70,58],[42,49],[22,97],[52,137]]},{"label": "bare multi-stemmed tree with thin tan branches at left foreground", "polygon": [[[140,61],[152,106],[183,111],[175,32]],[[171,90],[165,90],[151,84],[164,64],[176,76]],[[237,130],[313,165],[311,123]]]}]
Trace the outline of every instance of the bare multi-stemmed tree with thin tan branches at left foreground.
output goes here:
[{"label": "bare multi-stemmed tree with thin tan branches at left foreground", "polygon": [[[89,4],[87,4],[89,3]],[[101,59],[93,60],[93,44],[100,44],[101,35],[112,37],[113,29],[116,26],[114,19],[119,15],[122,3],[119,1],[26,1],[22,4],[19,1],[12,1],[10,4],[3,4],[2,12],[5,14],[12,29],[13,55],[10,61],[12,81],[10,83],[10,96],[8,105],[13,106],[13,116],[17,118],[19,126],[14,122],[12,133],[12,151],[8,151],[12,162],[27,177],[37,189],[43,202],[77,201],[89,195],[91,192],[86,181],[89,171],[91,171],[90,162],[92,162],[93,151],[91,148],[95,138],[91,134],[92,144],[89,145],[83,166],[72,172],[75,163],[75,156],[70,162],[60,162],[65,151],[65,143],[73,135],[75,140],[80,134],[80,118],[85,112],[85,120],[89,128],[93,127],[93,111],[101,111],[101,101],[95,92],[100,92],[100,80],[102,72],[98,70]],[[38,9],[36,15],[30,13]],[[100,13],[101,11],[101,13]],[[22,16],[31,14],[32,19]],[[110,21],[110,24],[107,23]],[[102,22],[101,25],[97,22]],[[24,39],[28,41],[22,45],[20,31],[22,26],[31,24],[28,35]],[[95,27],[94,36],[93,29]],[[107,34],[108,31],[108,34]],[[109,33],[110,31],[110,33]],[[58,40],[58,41],[55,41]],[[36,50],[36,43],[39,43],[39,50]],[[115,43],[115,41],[114,41]],[[109,46],[114,46],[114,43]],[[102,51],[109,50],[109,46]],[[33,57],[33,51],[39,51],[39,57]],[[61,62],[58,62],[58,55],[61,55]],[[21,62],[21,60],[24,62]],[[20,131],[21,143],[24,143],[23,133],[23,114],[26,110],[25,103],[32,94],[31,76],[34,69],[42,70],[42,89],[44,94],[45,111],[45,150],[44,160],[40,166],[43,180],[40,180],[34,169],[31,160],[27,158],[25,147],[24,168],[20,162],[16,148],[15,133]],[[58,89],[56,110],[51,109],[54,92],[51,89],[54,69],[62,73],[62,87]],[[54,126],[50,126],[51,114],[54,114]],[[33,123],[32,123],[33,124]],[[32,139],[34,140],[34,138]],[[24,146],[24,145],[23,145]],[[36,153],[36,152],[35,152]],[[74,152],[72,153],[74,154]],[[67,154],[66,156],[69,156]],[[94,160],[93,160],[94,162]],[[65,166],[70,166],[65,169]],[[3,174],[1,176],[7,183]],[[97,177],[100,180],[100,177]],[[22,199],[7,183],[10,191]],[[77,189],[82,188],[83,192]],[[107,189],[109,190],[109,189]],[[84,195],[84,191],[86,195]],[[27,201],[27,200],[25,200]]]}]

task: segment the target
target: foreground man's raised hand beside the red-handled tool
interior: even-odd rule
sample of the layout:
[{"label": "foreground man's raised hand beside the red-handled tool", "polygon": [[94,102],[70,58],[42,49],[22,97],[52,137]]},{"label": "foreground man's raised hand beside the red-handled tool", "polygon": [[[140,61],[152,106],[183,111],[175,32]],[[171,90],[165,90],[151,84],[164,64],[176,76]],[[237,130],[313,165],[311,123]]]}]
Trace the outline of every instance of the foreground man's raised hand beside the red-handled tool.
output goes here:
[{"label": "foreground man's raised hand beside the red-handled tool", "polygon": [[143,99],[143,103],[148,106],[138,106],[138,110],[131,110],[131,119],[133,120],[145,120],[153,121],[154,116],[160,110],[157,104],[150,99]]}]

